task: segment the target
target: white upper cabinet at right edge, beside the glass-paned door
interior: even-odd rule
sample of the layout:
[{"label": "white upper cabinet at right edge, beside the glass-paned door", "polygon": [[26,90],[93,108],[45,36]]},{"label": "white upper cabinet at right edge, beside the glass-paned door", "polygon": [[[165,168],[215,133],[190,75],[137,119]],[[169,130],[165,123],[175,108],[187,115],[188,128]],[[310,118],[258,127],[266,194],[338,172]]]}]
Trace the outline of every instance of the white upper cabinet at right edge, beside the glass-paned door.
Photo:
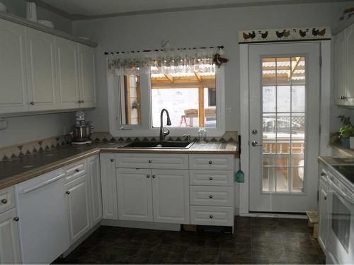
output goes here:
[{"label": "white upper cabinet at right edge, beside the glass-paned door", "polygon": [[336,104],[354,107],[354,24],[335,39]]}]

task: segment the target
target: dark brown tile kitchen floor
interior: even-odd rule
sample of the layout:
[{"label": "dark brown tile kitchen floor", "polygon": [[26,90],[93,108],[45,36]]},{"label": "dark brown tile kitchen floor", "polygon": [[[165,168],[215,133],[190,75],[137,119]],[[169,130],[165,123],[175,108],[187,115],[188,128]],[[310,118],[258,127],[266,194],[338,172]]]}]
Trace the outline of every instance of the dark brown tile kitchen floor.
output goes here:
[{"label": "dark brown tile kitchen floor", "polygon": [[307,220],[244,218],[234,235],[101,226],[56,264],[324,264]]}]

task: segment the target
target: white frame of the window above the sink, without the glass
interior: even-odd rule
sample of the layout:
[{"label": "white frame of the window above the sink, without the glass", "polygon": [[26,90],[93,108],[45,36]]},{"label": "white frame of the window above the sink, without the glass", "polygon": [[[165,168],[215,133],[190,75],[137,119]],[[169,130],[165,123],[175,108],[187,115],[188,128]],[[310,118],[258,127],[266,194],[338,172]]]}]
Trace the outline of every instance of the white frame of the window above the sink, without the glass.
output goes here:
[{"label": "white frame of the window above the sink, without the glass", "polygon": [[[217,126],[215,128],[205,128],[207,136],[219,137],[225,133],[225,78],[224,66],[216,70],[216,88],[217,88]],[[108,75],[108,115],[110,134],[114,137],[159,137],[159,127],[152,127],[152,102],[151,102],[151,81],[150,75],[146,69],[142,69],[140,74],[140,96],[141,96],[141,113],[142,124],[127,125],[121,123],[120,117],[120,76]],[[144,99],[149,100],[144,100]],[[168,107],[166,107],[168,110]],[[166,126],[166,117],[164,116],[164,126]],[[190,136],[198,136],[199,127],[171,127],[169,136],[182,136],[190,134]]]}]

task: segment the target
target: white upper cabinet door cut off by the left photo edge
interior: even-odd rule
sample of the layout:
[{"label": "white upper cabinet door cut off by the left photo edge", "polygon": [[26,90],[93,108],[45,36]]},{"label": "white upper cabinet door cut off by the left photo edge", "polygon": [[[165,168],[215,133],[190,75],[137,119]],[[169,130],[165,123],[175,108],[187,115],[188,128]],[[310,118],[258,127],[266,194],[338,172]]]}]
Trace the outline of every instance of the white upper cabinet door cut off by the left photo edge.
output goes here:
[{"label": "white upper cabinet door cut off by the left photo edge", "polygon": [[27,112],[25,28],[0,19],[0,113]]}]

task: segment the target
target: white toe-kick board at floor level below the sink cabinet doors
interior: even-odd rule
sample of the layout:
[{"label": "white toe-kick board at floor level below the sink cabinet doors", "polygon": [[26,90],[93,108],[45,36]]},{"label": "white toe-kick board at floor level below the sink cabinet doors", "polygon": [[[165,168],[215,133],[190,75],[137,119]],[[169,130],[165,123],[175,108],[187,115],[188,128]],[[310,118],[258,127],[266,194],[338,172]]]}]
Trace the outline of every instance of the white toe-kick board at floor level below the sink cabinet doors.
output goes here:
[{"label": "white toe-kick board at floor level below the sink cabinet doors", "polygon": [[155,230],[181,231],[181,225],[176,223],[153,223],[131,220],[102,220],[101,225],[120,226],[123,228],[141,228]]}]

